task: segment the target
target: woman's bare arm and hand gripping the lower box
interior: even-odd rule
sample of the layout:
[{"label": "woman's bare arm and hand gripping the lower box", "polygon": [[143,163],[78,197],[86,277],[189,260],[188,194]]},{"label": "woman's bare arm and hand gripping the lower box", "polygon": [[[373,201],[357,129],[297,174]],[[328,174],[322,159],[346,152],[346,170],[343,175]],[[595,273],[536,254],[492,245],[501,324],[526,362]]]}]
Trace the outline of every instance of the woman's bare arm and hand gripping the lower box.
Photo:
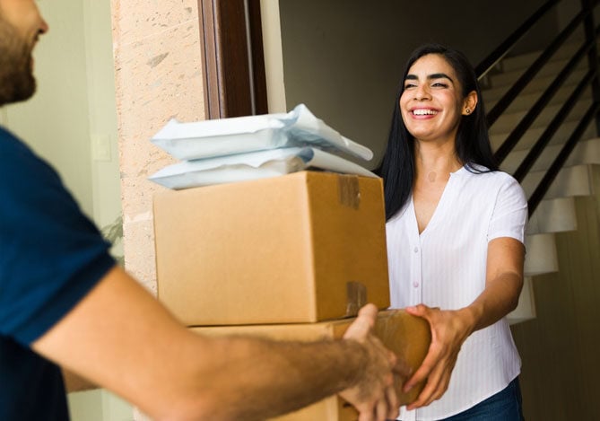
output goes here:
[{"label": "woman's bare arm and hand gripping the lower box", "polygon": [[509,237],[488,243],[485,289],[473,303],[456,311],[441,311],[419,304],[406,311],[430,322],[431,345],[421,367],[404,385],[404,391],[427,379],[419,398],[407,409],[429,405],[441,398],[450,382],[460,347],[475,330],[483,329],[517,308],[523,287],[525,246]]}]

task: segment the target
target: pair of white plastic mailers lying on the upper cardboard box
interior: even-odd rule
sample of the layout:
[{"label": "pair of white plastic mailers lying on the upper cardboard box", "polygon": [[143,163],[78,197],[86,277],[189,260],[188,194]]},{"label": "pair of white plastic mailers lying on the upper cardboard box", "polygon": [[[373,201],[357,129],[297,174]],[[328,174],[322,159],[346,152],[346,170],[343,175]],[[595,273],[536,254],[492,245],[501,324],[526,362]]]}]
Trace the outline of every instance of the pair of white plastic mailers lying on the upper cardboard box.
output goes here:
[{"label": "pair of white plastic mailers lying on the upper cardboard box", "polygon": [[183,162],[150,177],[170,189],[274,177],[309,168],[377,176],[344,155],[369,161],[369,148],[341,136],[300,104],[287,114],[169,124],[154,145]]}]

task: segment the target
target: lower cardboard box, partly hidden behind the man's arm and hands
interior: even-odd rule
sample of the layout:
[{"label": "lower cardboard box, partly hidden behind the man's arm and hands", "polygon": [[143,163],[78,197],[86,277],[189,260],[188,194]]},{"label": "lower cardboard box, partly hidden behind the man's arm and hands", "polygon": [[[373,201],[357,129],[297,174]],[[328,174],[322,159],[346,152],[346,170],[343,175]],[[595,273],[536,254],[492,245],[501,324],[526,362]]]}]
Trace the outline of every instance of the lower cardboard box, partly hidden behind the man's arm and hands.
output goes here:
[{"label": "lower cardboard box, partly hidden behind the man's arm and hands", "polygon": [[[219,337],[223,335],[248,335],[276,340],[311,341],[342,338],[354,319],[260,326],[222,326],[192,328],[197,333]],[[403,310],[378,313],[375,334],[400,358],[413,367],[421,365],[430,346],[430,327],[426,320],[411,316]],[[421,392],[424,383],[416,385],[409,393],[402,392],[402,382],[396,382],[396,393],[401,405],[412,402]],[[274,418],[277,421],[355,421],[358,412],[337,396],[323,399],[309,407]]]}]

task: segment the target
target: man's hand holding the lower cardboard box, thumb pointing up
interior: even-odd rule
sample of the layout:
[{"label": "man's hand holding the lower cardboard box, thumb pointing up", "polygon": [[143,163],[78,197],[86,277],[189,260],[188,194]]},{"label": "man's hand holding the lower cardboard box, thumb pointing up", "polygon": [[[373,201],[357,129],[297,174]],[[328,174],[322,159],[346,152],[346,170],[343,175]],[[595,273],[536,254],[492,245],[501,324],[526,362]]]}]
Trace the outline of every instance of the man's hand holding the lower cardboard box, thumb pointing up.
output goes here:
[{"label": "man's hand holding the lower cardboard box, thumb pointing up", "polygon": [[356,320],[346,330],[344,339],[356,340],[365,349],[369,364],[364,367],[358,383],[340,393],[360,412],[359,421],[385,421],[398,416],[398,399],[394,389],[394,374],[407,375],[405,366],[398,367],[398,359],[381,341],[372,329],[377,319],[377,307],[364,306]]}]

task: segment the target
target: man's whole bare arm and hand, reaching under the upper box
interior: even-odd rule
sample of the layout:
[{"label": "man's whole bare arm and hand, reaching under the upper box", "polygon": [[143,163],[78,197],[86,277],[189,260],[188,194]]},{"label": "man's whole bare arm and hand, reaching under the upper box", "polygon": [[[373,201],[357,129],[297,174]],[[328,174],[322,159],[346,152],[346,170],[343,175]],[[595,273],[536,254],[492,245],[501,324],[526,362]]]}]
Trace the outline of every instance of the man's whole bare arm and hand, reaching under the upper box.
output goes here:
[{"label": "man's whole bare arm and hand, reaching under the upper box", "polygon": [[113,268],[33,349],[156,420],[265,419],[341,390],[361,421],[383,420],[396,357],[370,333],[376,315],[365,307],[342,340],[205,338]]}]

